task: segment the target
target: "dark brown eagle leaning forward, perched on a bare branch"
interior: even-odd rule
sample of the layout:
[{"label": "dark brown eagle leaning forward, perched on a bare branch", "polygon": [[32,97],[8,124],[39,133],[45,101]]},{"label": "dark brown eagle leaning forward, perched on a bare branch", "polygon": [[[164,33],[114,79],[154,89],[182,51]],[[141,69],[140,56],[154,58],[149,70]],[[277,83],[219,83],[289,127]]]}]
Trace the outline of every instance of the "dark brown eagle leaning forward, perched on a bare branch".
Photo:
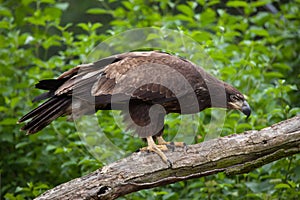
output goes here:
[{"label": "dark brown eagle leaning forward, perched on a bare branch", "polygon": [[183,142],[163,139],[168,113],[192,114],[217,107],[251,109],[244,95],[191,61],[161,51],[135,51],[76,66],[57,79],[41,80],[36,88],[47,92],[33,101],[46,100],[24,115],[21,130],[33,134],[60,116],[75,119],[98,110],[121,110],[129,129],[148,145],[141,150],[157,153],[172,165],[163,151]]}]

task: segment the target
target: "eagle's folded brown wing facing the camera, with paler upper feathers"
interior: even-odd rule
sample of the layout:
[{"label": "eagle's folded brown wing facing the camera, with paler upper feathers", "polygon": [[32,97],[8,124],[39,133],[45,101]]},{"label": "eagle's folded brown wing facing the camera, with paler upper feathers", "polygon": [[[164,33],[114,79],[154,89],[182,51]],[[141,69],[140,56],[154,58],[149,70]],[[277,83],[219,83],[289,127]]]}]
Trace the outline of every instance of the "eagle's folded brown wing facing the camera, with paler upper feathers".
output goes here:
[{"label": "eagle's folded brown wing facing the camera, with paler upper feathers", "polygon": [[171,101],[184,96],[187,91],[192,92],[192,84],[185,75],[193,68],[193,64],[166,53],[129,52],[63,73],[58,80],[68,80],[55,90],[55,95],[73,91],[83,98],[90,94],[94,97],[119,95],[143,101]]}]

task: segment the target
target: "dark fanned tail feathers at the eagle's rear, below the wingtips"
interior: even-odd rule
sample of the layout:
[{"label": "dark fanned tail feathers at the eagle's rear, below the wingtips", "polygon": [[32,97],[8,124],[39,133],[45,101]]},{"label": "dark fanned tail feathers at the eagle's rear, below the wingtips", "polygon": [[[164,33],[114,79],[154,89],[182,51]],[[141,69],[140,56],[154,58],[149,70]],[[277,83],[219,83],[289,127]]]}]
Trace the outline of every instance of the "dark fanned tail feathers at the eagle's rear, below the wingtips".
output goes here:
[{"label": "dark fanned tail feathers at the eagle's rear, below the wingtips", "polygon": [[49,99],[19,120],[19,122],[22,122],[32,118],[21,130],[27,131],[27,134],[40,131],[56,118],[67,114],[67,108],[70,105],[70,97],[53,97]]}]

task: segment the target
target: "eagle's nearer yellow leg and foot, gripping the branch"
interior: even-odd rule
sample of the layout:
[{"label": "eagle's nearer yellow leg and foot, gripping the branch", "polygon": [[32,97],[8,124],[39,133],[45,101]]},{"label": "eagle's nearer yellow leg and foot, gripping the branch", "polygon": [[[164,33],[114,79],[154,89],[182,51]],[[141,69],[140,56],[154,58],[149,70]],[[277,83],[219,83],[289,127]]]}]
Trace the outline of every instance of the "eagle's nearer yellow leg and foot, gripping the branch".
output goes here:
[{"label": "eagle's nearer yellow leg and foot, gripping the branch", "polygon": [[169,165],[169,167],[172,167],[172,162],[167,158],[167,156],[162,151],[167,151],[168,147],[166,145],[156,145],[152,136],[148,136],[147,138],[148,146],[141,148],[140,151],[152,151],[157,153],[161,159]]}]

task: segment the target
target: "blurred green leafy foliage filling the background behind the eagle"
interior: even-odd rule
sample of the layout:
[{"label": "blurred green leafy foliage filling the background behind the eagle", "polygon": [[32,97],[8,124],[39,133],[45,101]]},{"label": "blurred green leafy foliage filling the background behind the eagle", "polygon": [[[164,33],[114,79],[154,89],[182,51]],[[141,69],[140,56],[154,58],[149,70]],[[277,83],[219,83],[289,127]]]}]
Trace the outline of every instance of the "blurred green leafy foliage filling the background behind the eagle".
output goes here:
[{"label": "blurred green leafy foliage filling the background behind the eagle", "polygon": [[[271,12],[270,5],[278,11]],[[16,122],[37,105],[31,99],[40,94],[32,89],[38,80],[85,62],[98,43],[130,28],[184,32],[213,58],[211,73],[246,94],[253,108],[251,118],[246,121],[238,112],[227,113],[222,135],[261,129],[295,116],[300,112],[299,9],[297,1],[1,1],[1,197],[31,199],[102,166],[64,118],[31,136],[20,132]],[[143,145],[122,133],[111,114],[99,117],[104,132],[127,153]],[[212,110],[200,114],[195,142],[204,139],[206,124],[214,117]],[[168,117],[168,138],[174,137],[178,123],[176,115]],[[99,151],[104,150],[99,144]],[[299,166],[300,157],[294,155],[248,174],[219,173],[120,199],[298,199]]]}]

